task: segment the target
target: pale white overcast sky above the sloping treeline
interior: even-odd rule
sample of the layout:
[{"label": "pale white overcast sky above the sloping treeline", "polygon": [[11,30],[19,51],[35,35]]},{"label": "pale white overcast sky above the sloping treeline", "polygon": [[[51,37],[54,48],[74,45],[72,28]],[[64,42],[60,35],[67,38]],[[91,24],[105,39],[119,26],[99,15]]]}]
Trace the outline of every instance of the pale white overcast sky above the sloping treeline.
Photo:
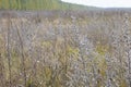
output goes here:
[{"label": "pale white overcast sky above the sloping treeline", "polygon": [[61,0],[98,8],[131,8],[131,0]]}]

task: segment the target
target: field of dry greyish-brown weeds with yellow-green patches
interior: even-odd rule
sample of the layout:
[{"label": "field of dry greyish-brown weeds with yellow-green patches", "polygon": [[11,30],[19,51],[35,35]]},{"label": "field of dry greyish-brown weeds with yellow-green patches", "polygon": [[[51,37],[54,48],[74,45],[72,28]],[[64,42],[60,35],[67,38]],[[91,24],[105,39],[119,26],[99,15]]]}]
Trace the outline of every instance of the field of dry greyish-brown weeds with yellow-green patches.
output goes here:
[{"label": "field of dry greyish-brown weeds with yellow-green patches", "polygon": [[0,12],[0,87],[131,87],[131,14]]}]

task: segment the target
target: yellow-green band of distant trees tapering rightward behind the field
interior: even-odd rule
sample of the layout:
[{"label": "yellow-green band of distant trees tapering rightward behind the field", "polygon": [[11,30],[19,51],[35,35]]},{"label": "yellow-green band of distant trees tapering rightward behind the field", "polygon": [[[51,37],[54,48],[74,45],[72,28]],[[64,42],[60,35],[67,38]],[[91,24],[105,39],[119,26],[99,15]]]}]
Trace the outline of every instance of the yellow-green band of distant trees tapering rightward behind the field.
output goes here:
[{"label": "yellow-green band of distant trees tapering rightward behind the field", "polygon": [[85,5],[66,3],[61,0],[0,0],[0,10],[80,10]]}]

